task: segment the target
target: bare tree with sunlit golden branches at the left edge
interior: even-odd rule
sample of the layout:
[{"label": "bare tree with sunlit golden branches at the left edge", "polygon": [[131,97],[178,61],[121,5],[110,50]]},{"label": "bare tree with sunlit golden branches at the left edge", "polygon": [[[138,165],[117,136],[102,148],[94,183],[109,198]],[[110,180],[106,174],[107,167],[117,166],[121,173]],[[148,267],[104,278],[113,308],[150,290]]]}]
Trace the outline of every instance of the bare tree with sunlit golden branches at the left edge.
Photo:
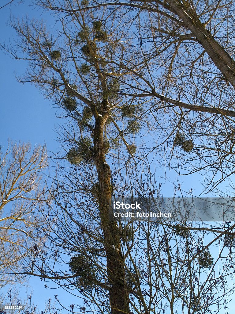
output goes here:
[{"label": "bare tree with sunlit golden branches at the left edge", "polygon": [[[43,225],[40,179],[47,165],[45,147],[10,143],[0,151],[0,285],[23,282],[24,261],[34,256],[37,228]],[[34,213],[34,214],[33,214]],[[25,266],[24,266],[25,267]],[[30,267],[30,266],[29,266]]]}]

